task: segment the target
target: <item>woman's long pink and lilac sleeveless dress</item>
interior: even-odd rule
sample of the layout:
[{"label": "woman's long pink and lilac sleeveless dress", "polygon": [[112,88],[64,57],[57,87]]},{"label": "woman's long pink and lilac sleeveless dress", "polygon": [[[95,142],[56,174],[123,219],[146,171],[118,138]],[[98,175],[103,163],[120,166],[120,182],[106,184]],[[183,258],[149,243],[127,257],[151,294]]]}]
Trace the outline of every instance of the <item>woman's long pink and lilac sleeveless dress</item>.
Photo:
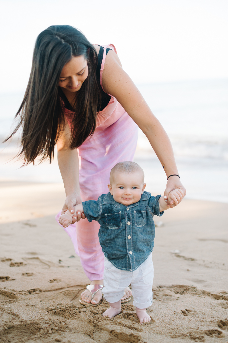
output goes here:
[{"label": "woman's long pink and lilac sleeveless dress", "polygon": [[[105,65],[106,48],[116,52],[114,45],[104,45],[104,55],[100,69],[100,85]],[[103,87],[102,87],[103,88]],[[110,94],[109,94],[110,95]],[[110,95],[111,96],[111,95]],[[72,112],[64,108],[70,126]],[[108,193],[110,170],[118,162],[133,161],[138,136],[138,127],[117,99],[111,96],[108,105],[97,114],[96,129],[79,147],[80,190],[83,201],[97,200]],[[61,211],[57,214],[58,221]],[[59,222],[58,222],[59,223]],[[98,239],[99,223],[80,220],[68,226],[65,231],[70,236],[82,267],[89,280],[101,280],[104,273],[104,254]]]}]

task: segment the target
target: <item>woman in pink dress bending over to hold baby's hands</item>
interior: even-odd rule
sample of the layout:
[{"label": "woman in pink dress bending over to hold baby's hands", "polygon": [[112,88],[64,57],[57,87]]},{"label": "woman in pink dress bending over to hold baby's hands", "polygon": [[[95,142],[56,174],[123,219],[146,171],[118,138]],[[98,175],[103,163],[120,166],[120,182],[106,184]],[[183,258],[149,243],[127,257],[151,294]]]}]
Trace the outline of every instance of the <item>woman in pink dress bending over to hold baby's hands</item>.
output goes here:
[{"label": "woman in pink dress bending over to hold baby's hands", "polygon": [[[136,72],[146,72],[146,60],[142,59]],[[22,126],[20,155],[24,164],[34,162],[37,156],[51,162],[57,145],[66,193],[62,213],[68,209],[74,213],[73,206],[82,199],[97,200],[108,192],[110,169],[118,162],[133,160],[137,127],[169,177],[164,194],[167,203],[174,205],[169,196],[173,189],[179,190],[179,202],[184,197],[169,138],[123,71],[113,45],[92,45],[68,25],[50,26],[41,32],[19,113],[21,121],[12,135]],[[81,213],[75,214],[75,221],[81,217],[84,220],[67,232],[91,285],[96,285],[81,294],[81,301],[97,305],[102,298],[104,270],[99,224],[88,223]],[[125,289],[122,300],[130,295],[130,289]]]}]

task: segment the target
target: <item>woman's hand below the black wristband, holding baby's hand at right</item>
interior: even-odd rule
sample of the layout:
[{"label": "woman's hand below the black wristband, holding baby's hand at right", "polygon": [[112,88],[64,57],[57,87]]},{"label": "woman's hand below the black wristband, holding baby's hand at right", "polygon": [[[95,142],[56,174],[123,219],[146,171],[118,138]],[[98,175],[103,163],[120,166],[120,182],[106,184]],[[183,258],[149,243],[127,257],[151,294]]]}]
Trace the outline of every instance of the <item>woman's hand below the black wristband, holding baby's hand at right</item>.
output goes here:
[{"label": "woman's hand below the black wristband, holding baby's hand at right", "polygon": [[[176,206],[176,204],[174,203],[174,201],[170,197],[170,192],[174,189],[177,190],[177,193],[179,195],[179,199],[177,199],[178,204],[179,204],[181,202],[181,200],[183,199],[183,197],[185,197],[185,195],[186,195],[186,189],[182,185],[178,176],[170,176],[168,181],[167,181],[167,184],[166,184],[166,190],[164,192],[164,199],[167,200],[166,203],[167,203],[167,205],[169,205],[170,208]],[[165,196],[167,198],[165,198]]]}]

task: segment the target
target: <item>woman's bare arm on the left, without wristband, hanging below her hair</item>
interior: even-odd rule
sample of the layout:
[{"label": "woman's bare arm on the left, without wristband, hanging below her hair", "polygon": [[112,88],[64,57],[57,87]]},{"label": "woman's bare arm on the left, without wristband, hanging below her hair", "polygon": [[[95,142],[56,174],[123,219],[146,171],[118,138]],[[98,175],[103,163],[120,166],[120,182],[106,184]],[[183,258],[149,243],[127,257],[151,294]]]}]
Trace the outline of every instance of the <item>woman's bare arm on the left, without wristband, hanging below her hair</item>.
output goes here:
[{"label": "woman's bare arm on the left, without wristband, hanging below her hair", "polygon": [[[82,203],[80,197],[80,186],[79,186],[79,156],[77,154],[77,149],[69,149],[70,142],[70,128],[68,123],[65,123],[65,128],[58,139],[57,151],[58,151],[58,164],[59,170],[62,175],[63,184],[66,193],[66,200],[62,208],[61,214],[64,214],[69,210],[71,213],[74,213],[74,206]],[[77,220],[73,217],[73,223],[81,219],[78,213]],[[82,217],[83,219],[85,218]]]}]

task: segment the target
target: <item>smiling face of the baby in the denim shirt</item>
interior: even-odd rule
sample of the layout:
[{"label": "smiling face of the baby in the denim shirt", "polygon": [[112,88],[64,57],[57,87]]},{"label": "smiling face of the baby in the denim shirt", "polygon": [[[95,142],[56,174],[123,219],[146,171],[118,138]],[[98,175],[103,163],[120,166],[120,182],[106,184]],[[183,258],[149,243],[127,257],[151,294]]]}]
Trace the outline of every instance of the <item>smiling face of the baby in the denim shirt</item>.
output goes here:
[{"label": "smiling face of the baby in the denim shirt", "polygon": [[141,199],[146,187],[143,181],[143,175],[139,171],[131,174],[117,172],[108,188],[114,200],[128,206]]}]

